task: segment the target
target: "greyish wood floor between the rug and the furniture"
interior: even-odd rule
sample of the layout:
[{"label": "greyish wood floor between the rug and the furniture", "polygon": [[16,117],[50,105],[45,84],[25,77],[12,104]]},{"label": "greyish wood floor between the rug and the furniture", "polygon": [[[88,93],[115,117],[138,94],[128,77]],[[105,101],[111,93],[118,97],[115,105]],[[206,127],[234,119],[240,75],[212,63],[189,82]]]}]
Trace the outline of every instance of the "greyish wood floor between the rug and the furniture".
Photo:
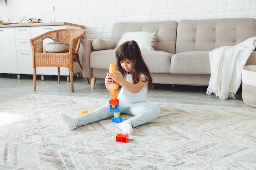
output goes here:
[{"label": "greyish wood floor between the rug and the furniture", "polygon": [[[95,89],[90,89],[90,84],[87,84],[82,76],[79,79],[75,76],[74,93],[70,92],[70,82],[66,81],[65,76],[61,76],[60,84],[57,82],[57,76],[45,76],[45,80],[41,81],[40,75],[38,75],[36,82],[36,91],[33,91],[32,75],[20,75],[20,79],[17,79],[17,75],[0,74],[0,102],[30,93],[99,98],[110,97],[103,79],[97,79]],[[252,108],[243,102],[241,89],[236,94],[236,100],[221,100],[214,94],[209,96],[206,94],[206,89],[207,87],[204,86],[175,85],[172,87],[168,84],[155,84],[154,90],[148,91],[148,100],[170,104],[225,106],[233,107],[234,109],[236,107]]]}]

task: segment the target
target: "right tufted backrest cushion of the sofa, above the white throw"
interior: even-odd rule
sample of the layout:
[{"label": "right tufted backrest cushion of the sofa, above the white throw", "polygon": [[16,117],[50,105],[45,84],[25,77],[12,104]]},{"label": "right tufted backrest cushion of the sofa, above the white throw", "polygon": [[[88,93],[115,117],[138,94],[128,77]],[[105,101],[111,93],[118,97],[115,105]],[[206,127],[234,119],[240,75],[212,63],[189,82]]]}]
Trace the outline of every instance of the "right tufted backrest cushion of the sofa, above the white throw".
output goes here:
[{"label": "right tufted backrest cushion of the sofa, above the white throw", "polygon": [[220,46],[234,46],[254,36],[255,18],[180,20],[175,53],[211,51]]}]

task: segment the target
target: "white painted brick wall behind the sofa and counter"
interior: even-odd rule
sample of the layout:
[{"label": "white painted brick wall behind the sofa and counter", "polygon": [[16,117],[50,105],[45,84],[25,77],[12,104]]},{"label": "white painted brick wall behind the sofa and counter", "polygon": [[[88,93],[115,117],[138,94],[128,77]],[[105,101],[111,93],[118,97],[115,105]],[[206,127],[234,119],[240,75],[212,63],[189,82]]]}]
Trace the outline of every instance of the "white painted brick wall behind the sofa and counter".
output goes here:
[{"label": "white painted brick wall behind the sofa and counter", "polygon": [[86,38],[110,38],[115,22],[256,18],[256,0],[0,0],[0,20],[40,18],[86,27]]}]

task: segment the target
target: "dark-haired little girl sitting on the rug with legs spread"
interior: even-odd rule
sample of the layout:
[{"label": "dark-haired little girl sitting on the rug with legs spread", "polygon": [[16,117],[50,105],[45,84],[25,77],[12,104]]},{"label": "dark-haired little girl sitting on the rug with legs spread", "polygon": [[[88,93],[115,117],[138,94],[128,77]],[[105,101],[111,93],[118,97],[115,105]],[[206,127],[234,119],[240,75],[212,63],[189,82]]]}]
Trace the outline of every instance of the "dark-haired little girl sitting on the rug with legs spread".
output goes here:
[{"label": "dark-haired little girl sitting on the rug with legs spread", "polygon": [[[126,113],[133,117],[119,123],[118,127],[125,133],[131,134],[132,128],[157,118],[160,110],[157,106],[146,103],[147,91],[153,89],[154,84],[137,42],[133,40],[124,42],[118,47],[115,55],[117,72],[113,71],[114,75],[107,73],[105,85],[108,89],[108,84],[114,80],[122,86],[117,97],[120,113]],[[113,117],[109,104],[74,118],[63,113],[58,114],[58,119],[65,124],[68,130],[108,117]]]}]

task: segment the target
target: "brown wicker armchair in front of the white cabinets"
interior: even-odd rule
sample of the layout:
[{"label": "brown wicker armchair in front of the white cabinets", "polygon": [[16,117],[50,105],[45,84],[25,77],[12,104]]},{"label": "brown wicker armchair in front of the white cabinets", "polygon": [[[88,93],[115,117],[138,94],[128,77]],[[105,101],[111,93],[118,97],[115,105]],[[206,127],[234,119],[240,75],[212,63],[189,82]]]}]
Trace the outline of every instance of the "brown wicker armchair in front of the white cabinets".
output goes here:
[{"label": "brown wicker armchair in front of the white cabinets", "polygon": [[[59,29],[49,31],[30,40],[34,68],[34,91],[36,91],[36,67],[58,67],[58,83],[60,83],[60,67],[68,67],[70,71],[71,91],[74,92],[73,62],[77,62],[82,71],[83,68],[79,61],[78,50],[84,34],[84,29]],[[64,42],[70,44],[69,52],[44,53],[43,40],[46,38],[50,38],[54,42]],[[88,78],[85,79],[88,84],[90,84]]]}]

